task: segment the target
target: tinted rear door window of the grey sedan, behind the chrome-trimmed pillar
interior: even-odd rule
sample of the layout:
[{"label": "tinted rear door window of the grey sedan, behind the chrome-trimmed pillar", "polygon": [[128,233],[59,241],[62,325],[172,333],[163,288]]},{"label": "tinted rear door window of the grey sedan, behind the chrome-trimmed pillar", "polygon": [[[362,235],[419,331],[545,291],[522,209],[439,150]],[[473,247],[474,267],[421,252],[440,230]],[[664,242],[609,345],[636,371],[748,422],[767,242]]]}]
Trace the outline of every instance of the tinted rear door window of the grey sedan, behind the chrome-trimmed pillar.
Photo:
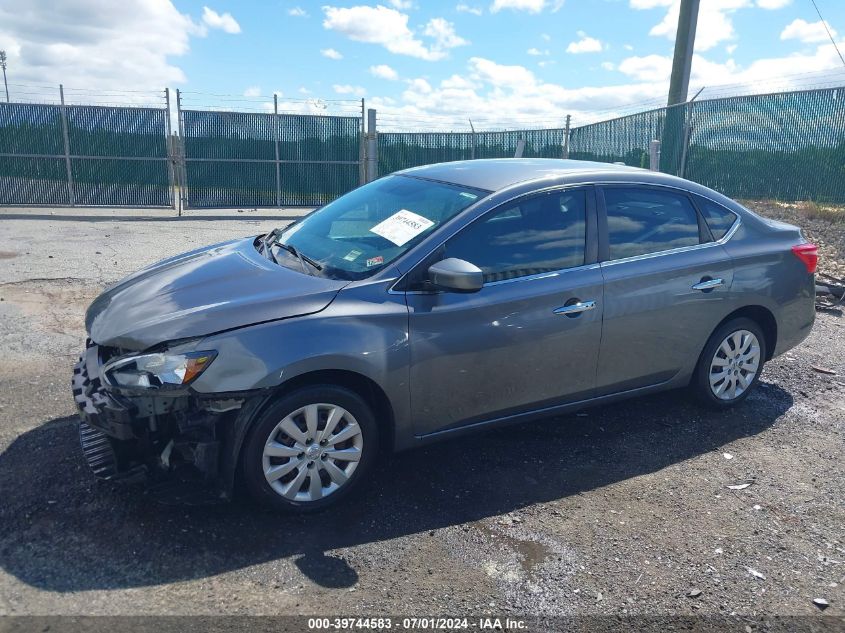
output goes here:
[{"label": "tinted rear door window of the grey sedan, behind the chrome-trimmed pillar", "polygon": [[637,187],[604,190],[610,259],[699,243],[698,216],[681,194]]}]

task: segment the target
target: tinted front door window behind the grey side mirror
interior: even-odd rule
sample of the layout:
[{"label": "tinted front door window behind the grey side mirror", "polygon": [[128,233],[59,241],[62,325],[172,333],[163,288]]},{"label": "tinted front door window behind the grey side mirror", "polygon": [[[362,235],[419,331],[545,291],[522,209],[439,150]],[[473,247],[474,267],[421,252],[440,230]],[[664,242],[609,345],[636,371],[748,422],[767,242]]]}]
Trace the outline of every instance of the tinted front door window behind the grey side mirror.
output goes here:
[{"label": "tinted front door window behind the grey side mirror", "polygon": [[583,189],[526,198],[473,222],[446,243],[457,257],[501,281],[584,264],[587,194]]}]

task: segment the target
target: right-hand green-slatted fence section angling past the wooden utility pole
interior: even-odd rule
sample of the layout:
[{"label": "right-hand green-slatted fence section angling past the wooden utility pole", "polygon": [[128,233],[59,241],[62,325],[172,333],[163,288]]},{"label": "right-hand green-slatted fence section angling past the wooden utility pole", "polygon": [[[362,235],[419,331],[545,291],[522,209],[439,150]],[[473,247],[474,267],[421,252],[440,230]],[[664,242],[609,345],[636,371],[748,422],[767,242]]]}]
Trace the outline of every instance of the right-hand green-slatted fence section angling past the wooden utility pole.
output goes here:
[{"label": "right-hand green-slatted fence section angling past the wooden utility pole", "polygon": [[845,88],[729,97],[572,130],[570,157],[660,170],[734,198],[845,202]]}]

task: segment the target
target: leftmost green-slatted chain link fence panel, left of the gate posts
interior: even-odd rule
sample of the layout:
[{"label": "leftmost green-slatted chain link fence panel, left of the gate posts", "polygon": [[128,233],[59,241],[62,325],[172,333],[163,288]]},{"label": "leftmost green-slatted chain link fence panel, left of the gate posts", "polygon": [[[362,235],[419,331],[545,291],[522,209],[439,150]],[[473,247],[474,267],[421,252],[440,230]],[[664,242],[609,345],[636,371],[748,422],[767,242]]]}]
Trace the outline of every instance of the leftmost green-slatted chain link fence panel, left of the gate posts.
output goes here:
[{"label": "leftmost green-slatted chain link fence panel, left of the gate posts", "polygon": [[0,204],[170,206],[166,116],[156,108],[0,103]]}]

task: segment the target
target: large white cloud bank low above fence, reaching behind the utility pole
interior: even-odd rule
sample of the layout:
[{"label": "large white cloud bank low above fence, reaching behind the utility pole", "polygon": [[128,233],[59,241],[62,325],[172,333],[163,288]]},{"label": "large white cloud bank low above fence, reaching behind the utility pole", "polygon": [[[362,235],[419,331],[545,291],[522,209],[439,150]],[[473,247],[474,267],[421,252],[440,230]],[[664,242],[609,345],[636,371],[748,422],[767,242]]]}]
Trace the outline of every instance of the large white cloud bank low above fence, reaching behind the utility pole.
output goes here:
[{"label": "large white cloud bank low above fence, reaching behind the utility pole", "polygon": [[[541,63],[546,66],[551,61],[544,59]],[[671,64],[671,54],[631,57],[615,70],[611,70],[611,62],[604,62],[601,68],[605,70],[597,64],[594,72],[618,72],[622,81],[617,85],[602,82],[604,85],[572,88],[546,82],[539,76],[539,69],[535,74],[524,66],[473,57],[463,72],[439,83],[426,79],[408,81],[398,102],[374,96],[367,103],[378,108],[380,114],[390,115],[391,120],[398,122],[397,127],[406,120],[422,128],[468,130],[468,113],[476,129],[559,127],[567,114],[573,116],[575,125],[584,125],[665,105]],[[690,96],[701,86],[707,86],[707,90],[699,99],[721,96],[726,91],[737,94],[794,90],[805,81],[798,73],[807,69],[831,73],[840,69],[839,76],[845,79],[841,66],[830,44],[818,46],[814,53],[760,59],[748,66],[733,60],[717,63],[696,54]]]}]

